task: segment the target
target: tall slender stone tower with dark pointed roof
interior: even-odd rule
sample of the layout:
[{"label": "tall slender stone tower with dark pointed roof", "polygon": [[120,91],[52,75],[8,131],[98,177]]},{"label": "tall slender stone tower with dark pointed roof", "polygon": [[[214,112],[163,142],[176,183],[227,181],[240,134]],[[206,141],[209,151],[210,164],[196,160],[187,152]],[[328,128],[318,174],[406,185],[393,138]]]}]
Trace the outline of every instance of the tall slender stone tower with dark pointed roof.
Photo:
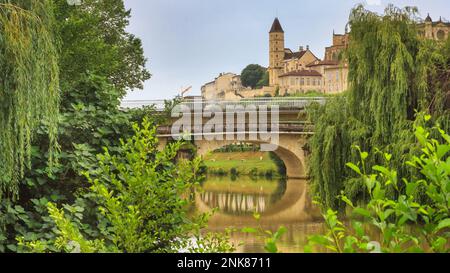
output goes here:
[{"label": "tall slender stone tower with dark pointed roof", "polygon": [[278,76],[283,69],[284,31],[278,18],[275,18],[269,31],[269,84],[279,84]]}]

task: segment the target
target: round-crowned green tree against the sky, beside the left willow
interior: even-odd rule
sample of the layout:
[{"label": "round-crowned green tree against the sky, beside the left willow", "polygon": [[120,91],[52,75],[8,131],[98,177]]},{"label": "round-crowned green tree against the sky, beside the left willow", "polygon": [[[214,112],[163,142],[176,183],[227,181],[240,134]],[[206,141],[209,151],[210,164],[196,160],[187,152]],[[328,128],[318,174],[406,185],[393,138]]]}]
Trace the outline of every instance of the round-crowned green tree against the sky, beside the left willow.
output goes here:
[{"label": "round-crowned green tree against the sky, beside the left willow", "polygon": [[84,0],[68,5],[53,0],[62,41],[62,91],[89,72],[106,77],[122,90],[142,88],[150,78],[139,38],[126,31],[130,10],[123,0]]}]

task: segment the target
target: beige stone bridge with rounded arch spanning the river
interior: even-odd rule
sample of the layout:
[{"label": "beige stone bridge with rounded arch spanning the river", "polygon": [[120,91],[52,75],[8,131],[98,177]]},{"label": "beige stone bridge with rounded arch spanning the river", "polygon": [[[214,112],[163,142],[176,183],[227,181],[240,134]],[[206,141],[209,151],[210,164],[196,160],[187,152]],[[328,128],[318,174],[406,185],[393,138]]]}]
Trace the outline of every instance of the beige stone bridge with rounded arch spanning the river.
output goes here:
[{"label": "beige stone bridge with rounded arch spanning the river", "polygon": [[[250,144],[273,144],[273,139],[255,138],[261,132],[276,135],[277,147],[273,152],[286,165],[286,175],[288,178],[304,179],[306,177],[307,161],[305,154],[305,145],[308,138],[313,134],[314,127],[312,124],[302,121],[302,113],[305,107],[311,103],[324,103],[324,98],[283,98],[283,99],[254,99],[243,101],[185,101],[182,102],[187,108],[191,110],[191,122],[189,126],[183,128],[183,132],[189,133],[192,143],[197,147],[197,154],[205,156],[221,147],[236,143],[250,143]],[[144,103],[137,104],[133,102],[129,107],[136,107],[137,105],[145,105]],[[147,105],[151,105],[148,103]],[[154,104],[156,105],[156,104]],[[224,121],[218,128],[210,132],[204,132],[204,124],[211,119],[207,108],[209,105],[218,105],[222,109],[226,107],[241,107],[244,115],[267,115],[266,123],[261,124],[252,123],[250,118],[245,118],[244,121],[238,119],[239,113],[233,114],[232,122],[229,124],[229,119]],[[256,108],[246,109],[247,106],[256,106]],[[259,109],[264,109],[262,113]],[[274,121],[273,109],[275,106],[277,110],[277,118]],[[126,105],[125,105],[126,107]],[[200,113],[195,111],[200,109]],[[256,109],[256,110],[255,110]],[[215,112],[217,115],[217,112]],[[160,139],[160,146],[165,146],[167,142],[173,138],[180,137],[183,133],[178,132],[173,134],[172,126],[179,119],[179,115],[173,116],[172,124],[160,126],[158,128],[158,138]],[[225,118],[223,118],[225,120]],[[200,121],[200,122],[199,122]],[[276,123],[276,124],[275,124]],[[274,130],[274,128],[276,128]],[[237,136],[237,138],[236,138]]]}]

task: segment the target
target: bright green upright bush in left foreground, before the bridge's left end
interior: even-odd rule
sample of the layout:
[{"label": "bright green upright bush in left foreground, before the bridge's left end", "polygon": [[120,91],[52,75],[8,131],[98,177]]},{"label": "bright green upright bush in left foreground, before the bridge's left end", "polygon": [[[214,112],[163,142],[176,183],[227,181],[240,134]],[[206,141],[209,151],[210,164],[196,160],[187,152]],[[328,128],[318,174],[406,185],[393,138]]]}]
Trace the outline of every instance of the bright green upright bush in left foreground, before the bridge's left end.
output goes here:
[{"label": "bright green upright bush in left foreground, before the bridge's left end", "polygon": [[[157,151],[156,129],[144,120],[133,126],[135,135],[122,141],[111,155],[105,148],[97,167],[84,172],[90,183],[84,194],[95,203],[94,221],[83,221],[81,211],[65,215],[48,204],[57,231],[55,240],[27,242],[18,238],[22,251],[62,252],[178,252],[231,251],[233,246],[214,234],[200,235],[208,215],[188,217],[190,192],[200,177],[200,159],[178,160],[181,142]],[[66,206],[66,205],[65,205]],[[79,221],[74,221],[78,218]],[[91,223],[91,224],[90,224]],[[92,226],[96,223],[96,226]],[[97,230],[92,236],[92,230]],[[192,238],[197,243],[192,245]],[[206,241],[202,241],[205,238]],[[210,249],[198,249],[208,246]]]}]

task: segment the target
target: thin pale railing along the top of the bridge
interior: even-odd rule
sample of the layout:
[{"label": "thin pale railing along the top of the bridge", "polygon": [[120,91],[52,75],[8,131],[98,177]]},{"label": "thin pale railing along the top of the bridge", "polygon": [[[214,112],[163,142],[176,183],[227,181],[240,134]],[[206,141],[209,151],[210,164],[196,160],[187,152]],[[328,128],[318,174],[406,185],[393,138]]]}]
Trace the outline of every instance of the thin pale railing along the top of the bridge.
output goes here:
[{"label": "thin pale railing along the top of the bridge", "polygon": [[[308,98],[255,98],[242,100],[182,100],[179,104],[189,107],[189,109],[205,109],[207,106],[216,105],[225,109],[227,106],[248,107],[248,106],[278,106],[284,110],[300,110],[304,109],[311,103],[324,104],[325,97],[308,97]],[[121,108],[142,108],[145,106],[153,106],[158,111],[165,109],[166,101],[164,100],[124,100]]]}]

